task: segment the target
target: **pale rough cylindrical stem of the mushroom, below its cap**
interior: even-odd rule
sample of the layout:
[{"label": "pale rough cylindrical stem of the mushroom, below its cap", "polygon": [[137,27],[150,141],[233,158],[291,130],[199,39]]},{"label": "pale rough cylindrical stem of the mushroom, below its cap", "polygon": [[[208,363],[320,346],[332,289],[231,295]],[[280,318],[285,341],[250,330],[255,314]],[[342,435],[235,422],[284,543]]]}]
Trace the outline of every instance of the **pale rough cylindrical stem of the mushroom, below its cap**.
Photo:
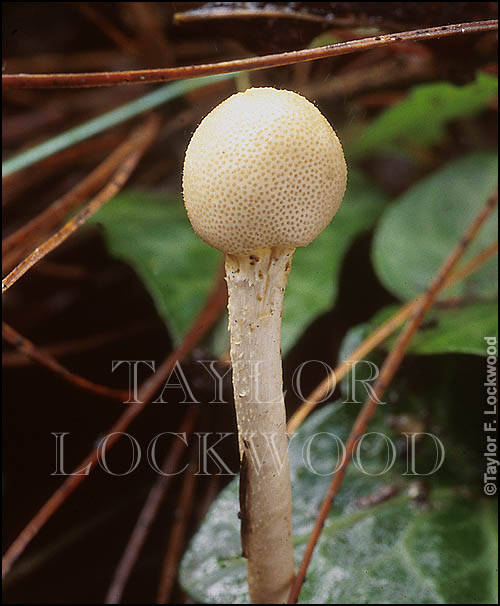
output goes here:
[{"label": "pale rough cylindrical stem of the mushroom, below its cap", "polygon": [[294,578],[292,495],[281,369],[281,310],[294,248],[226,255],[250,600],[286,603]]}]

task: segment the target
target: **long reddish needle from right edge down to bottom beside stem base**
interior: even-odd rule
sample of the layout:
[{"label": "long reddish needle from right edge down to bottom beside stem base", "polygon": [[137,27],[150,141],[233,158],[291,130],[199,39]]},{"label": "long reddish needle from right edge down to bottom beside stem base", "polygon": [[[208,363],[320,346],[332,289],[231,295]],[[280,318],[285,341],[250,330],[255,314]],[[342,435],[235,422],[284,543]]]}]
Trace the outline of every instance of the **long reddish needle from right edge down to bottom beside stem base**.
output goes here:
[{"label": "long reddish needle from right edge down to bottom beside stem base", "polygon": [[466,232],[464,233],[458,244],[451,251],[448,258],[436,272],[434,278],[431,280],[431,283],[425,295],[420,299],[417,308],[413,312],[410,322],[408,322],[405,328],[403,328],[396,341],[396,344],[394,345],[394,348],[384,360],[382,368],[380,369],[380,374],[375,382],[375,385],[373,386],[373,390],[370,392],[368,398],[366,399],[366,402],[363,405],[363,408],[361,409],[356,421],[354,422],[353,428],[346,443],[344,460],[340,465],[338,471],[333,476],[330,486],[328,487],[327,493],[323,499],[323,502],[321,503],[321,507],[316,518],[313,531],[311,533],[311,536],[309,537],[309,541],[307,543],[304,556],[300,563],[297,576],[295,577],[292,589],[290,590],[290,595],[288,599],[289,604],[295,604],[297,602],[302,588],[302,584],[307,573],[307,569],[314,553],[314,549],[320,537],[328,513],[330,512],[330,509],[333,505],[335,496],[339,491],[340,485],[345,476],[347,467],[350,463],[350,459],[359,439],[365,433],[369,421],[375,414],[378,403],[380,402],[390,381],[392,380],[399,366],[401,365],[401,362],[403,361],[408,346],[410,345],[411,340],[420,328],[425,314],[432,307],[432,304],[434,303],[438,293],[443,289],[444,285],[446,284],[446,280],[448,279],[451,272],[464,255],[469,244],[472,242],[476,234],[479,232],[480,228],[485,223],[486,219],[491,215],[491,213],[495,209],[497,203],[498,190],[489,198],[488,202],[484,205],[479,214],[475,217],[470,226],[467,228]]}]

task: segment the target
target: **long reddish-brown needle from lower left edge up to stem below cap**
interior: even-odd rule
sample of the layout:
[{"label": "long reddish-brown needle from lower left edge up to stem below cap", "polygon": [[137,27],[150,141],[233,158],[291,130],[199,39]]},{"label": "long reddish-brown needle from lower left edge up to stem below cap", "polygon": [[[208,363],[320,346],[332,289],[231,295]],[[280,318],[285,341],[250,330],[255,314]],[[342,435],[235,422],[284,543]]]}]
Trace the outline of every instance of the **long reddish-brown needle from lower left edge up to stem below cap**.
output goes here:
[{"label": "long reddish-brown needle from lower left edge up to stem below cap", "polygon": [[[138,399],[140,404],[133,404],[127,407],[126,411],[120,415],[117,421],[107,432],[107,449],[110,449],[119,440],[130,423],[144,410],[147,403],[153,398],[160,389],[166,377],[175,368],[175,364],[182,360],[208,330],[214,325],[221,314],[227,302],[227,291],[223,276],[218,276],[214,291],[209,296],[203,310],[193,322],[192,327],[186,334],[180,346],[173,351],[162,362],[155,374],[144,381],[139,389]],[[75,468],[73,473],[80,472],[78,475],[70,475],[64,483],[52,494],[52,496],[42,505],[35,516],[19,533],[11,546],[6,551],[2,559],[2,578],[8,574],[17,558],[23,553],[26,546],[38,534],[45,523],[54,515],[59,507],[66,501],[68,496],[83,482],[83,480],[95,468],[98,460],[98,450],[92,450],[85,459]],[[85,473],[82,473],[85,470]]]}]

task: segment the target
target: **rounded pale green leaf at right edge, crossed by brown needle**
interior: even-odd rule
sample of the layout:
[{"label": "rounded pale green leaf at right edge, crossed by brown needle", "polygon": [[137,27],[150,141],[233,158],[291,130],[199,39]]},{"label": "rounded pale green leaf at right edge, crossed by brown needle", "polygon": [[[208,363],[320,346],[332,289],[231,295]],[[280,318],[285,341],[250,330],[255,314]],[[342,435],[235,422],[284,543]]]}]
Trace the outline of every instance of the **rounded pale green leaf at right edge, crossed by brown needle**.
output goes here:
[{"label": "rounded pale green leaf at right edge, crossed by brown needle", "polygon": [[[422,293],[493,193],[497,155],[474,153],[419,181],[385,213],[375,232],[372,259],[388,290],[401,299]],[[497,238],[497,211],[483,225],[465,262]],[[494,299],[497,258],[444,296]]]}]

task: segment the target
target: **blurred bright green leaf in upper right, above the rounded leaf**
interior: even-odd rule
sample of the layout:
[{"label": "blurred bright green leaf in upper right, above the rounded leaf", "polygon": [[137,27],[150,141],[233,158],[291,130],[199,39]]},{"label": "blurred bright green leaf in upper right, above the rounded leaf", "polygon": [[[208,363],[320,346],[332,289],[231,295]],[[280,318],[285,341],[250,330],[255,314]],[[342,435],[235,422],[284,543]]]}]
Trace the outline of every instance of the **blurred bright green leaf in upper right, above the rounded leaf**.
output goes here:
[{"label": "blurred bright green leaf in upper right, above the rounded leaf", "polygon": [[354,156],[391,146],[432,145],[443,137],[448,122],[477,114],[497,94],[498,78],[486,73],[479,73],[465,86],[421,84],[404,101],[380,114],[349,152]]}]

